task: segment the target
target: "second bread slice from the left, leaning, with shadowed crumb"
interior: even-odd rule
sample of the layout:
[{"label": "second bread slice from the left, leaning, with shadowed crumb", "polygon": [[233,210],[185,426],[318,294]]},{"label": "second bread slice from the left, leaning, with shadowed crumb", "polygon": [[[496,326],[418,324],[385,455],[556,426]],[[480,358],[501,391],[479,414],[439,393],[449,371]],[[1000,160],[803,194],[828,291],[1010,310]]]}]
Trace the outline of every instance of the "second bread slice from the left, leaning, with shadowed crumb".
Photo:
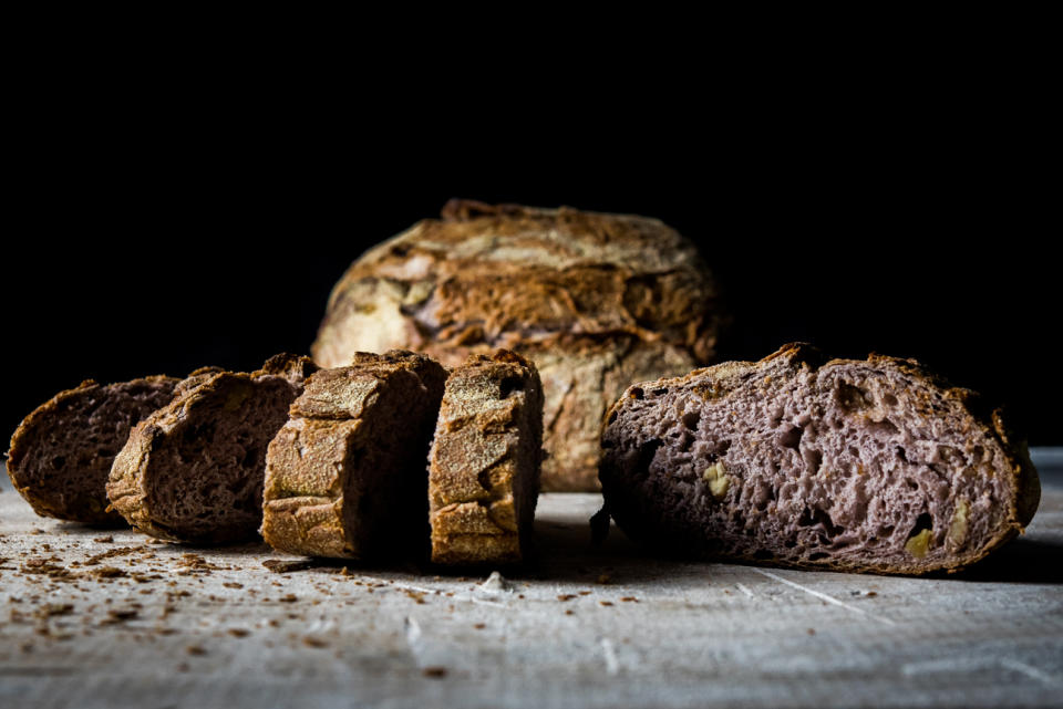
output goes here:
[{"label": "second bread slice from the left, leaning, with shadowed crumb", "polygon": [[158,539],[255,536],[266,448],[314,369],[307,357],[277,355],[250,374],[195,373],[130,434],[107,482],[114,509]]}]

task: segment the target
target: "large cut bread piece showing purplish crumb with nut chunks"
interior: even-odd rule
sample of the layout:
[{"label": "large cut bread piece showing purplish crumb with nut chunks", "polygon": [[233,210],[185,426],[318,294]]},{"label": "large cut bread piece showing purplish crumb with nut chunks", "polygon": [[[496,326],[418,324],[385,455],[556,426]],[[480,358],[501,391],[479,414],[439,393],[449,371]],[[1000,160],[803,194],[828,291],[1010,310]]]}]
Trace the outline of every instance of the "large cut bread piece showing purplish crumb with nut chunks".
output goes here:
[{"label": "large cut bread piece showing purplish crumb with nut chunks", "polygon": [[787,345],[628,388],[599,477],[671,552],[887,574],[956,571],[1022,531],[1036,471],[999,410],[910,359]]}]

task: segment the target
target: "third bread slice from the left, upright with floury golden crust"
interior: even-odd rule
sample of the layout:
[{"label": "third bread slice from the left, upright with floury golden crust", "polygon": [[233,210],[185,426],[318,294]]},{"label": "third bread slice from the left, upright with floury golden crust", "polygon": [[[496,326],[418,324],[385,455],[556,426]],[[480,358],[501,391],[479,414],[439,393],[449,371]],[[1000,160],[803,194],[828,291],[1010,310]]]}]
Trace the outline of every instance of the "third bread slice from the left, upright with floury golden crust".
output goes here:
[{"label": "third bread slice from the left, upright with floury golden crust", "polygon": [[310,377],[269,444],[266,541],[311,556],[423,550],[424,461],[445,379],[438,363],[400,350]]}]

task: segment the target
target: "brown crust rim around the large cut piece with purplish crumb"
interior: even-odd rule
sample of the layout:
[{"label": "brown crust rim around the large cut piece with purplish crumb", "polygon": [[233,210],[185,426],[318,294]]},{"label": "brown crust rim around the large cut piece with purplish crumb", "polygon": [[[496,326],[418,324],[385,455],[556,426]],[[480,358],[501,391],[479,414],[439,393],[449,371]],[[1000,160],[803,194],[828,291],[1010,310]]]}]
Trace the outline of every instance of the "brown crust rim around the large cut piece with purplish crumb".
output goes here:
[{"label": "brown crust rim around the large cut piece with purplish crumb", "polygon": [[[867,361],[863,362],[827,359],[811,345],[789,344],[756,363],[726,362],[712,367],[695,369],[682,377],[662,378],[631,385],[609,409],[602,424],[602,437],[616,438],[619,431],[617,428],[619,426],[618,419],[625,415],[631,399],[638,398],[639,393],[687,388],[696,393],[703,400],[724,399],[739,390],[743,383],[760,376],[773,364],[782,364],[783,369],[804,368],[806,372],[814,373],[849,365],[870,365],[880,371],[892,371],[912,382],[910,390],[914,396],[914,405],[921,416],[932,418],[941,410],[938,398],[946,404],[958,405],[958,410],[962,411],[962,418],[966,421],[966,427],[959,431],[960,436],[968,440],[978,439],[984,445],[993,446],[1002,453],[1004,465],[1001,468],[1007,471],[1005,480],[1010,492],[1003,501],[1004,510],[1003,514],[1000,515],[1001,523],[994,529],[990,539],[972,552],[946,557],[940,563],[930,566],[914,563],[847,563],[845,560],[829,557],[815,562],[795,562],[772,557],[763,552],[756,554],[714,553],[713,556],[760,565],[801,569],[830,569],[881,574],[925,574],[936,571],[952,573],[978,562],[1016,534],[1022,533],[1033,519],[1040,501],[1041,488],[1036,469],[1030,461],[1025,442],[1018,440],[1015,434],[1008,427],[1000,409],[988,407],[977,393],[952,386],[938,375],[928,372],[915,359],[901,359],[877,354],[870,355]],[[646,514],[648,501],[640,499],[639,491],[630,489],[616,475],[617,470],[618,468],[610,459],[610,455],[605,456],[600,467],[605,496],[602,512],[608,512],[617,524],[633,539],[653,544],[669,543],[667,540],[684,523],[680,522],[677,528],[673,526],[675,520],[667,522],[671,531],[665,531],[663,526],[659,526],[658,522],[651,519],[652,515]],[[989,475],[993,473],[990,472]],[[599,517],[599,519],[592,521],[592,528],[601,532],[603,520],[605,518]],[[684,533],[691,531],[688,526]]]}]

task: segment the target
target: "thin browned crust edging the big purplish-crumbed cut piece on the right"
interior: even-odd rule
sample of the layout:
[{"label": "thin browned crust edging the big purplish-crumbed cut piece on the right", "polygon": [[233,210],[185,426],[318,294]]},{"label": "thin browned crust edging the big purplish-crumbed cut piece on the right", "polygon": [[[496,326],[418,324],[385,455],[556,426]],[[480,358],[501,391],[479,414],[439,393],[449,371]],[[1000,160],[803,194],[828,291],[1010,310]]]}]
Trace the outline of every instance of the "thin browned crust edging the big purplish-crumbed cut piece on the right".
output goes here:
[{"label": "thin browned crust edging the big purplish-crumbed cut piece on the right", "polygon": [[[682,377],[661,378],[653,382],[632,384],[625,394],[610,407],[602,419],[601,434],[606,435],[609,426],[622,411],[625,402],[633,396],[636,389],[675,388],[688,385],[702,387],[711,398],[723,398],[734,392],[741,382],[756,375],[767,363],[784,359],[792,366],[809,367],[813,371],[834,366],[853,364],[870,364],[876,367],[892,368],[912,380],[923,385],[926,390],[935,392],[946,399],[954,402],[966,413],[968,428],[963,431],[967,437],[988,436],[1000,447],[1008,460],[1008,469],[1012,480],[1013,494],[1007,501],[1005,522],[997,530],[991,540],[979,548],[977,553],[961,555],[956,559],[946,559],[937,566],[927,567],[907,564],[865,564],[847,563],[845,560],[823,559],[809,563],[798,563],[789,560],[764,557],[762,555],[727,554],[720,559],[753,563],[757,565],[818,569],[848,572],[870,572],[878,574],[920,575],[931,572],[954,573],[984,559],[993,550],[1022,533],[1033,519],[1041,497],[1041,486],[1038,472],[1030,460],[1025,442],[1016,438],[1008,426],[1005,414],[999,408],[987,406],[979,394],[970,389],[952,386],[939,375],[928,371],[915,359],[904,359],[878,354],[871,354],[866,361],[858,359],[827,359],[817,348],[805,343],[784,345],[777,352],[760,362],[725,362],[715,366],[694,369]],[[923,389],[914,389],[920,395],[921,402],[928,410],[932,408],[932,396]],[[622,499],[626,491],[613,484],[608,461],[603,460],[600,468],[605,509],[616,520],[617,524],[634,539],[647,540],[653,532],[646,526],[644,520],[632,517]]]}]

